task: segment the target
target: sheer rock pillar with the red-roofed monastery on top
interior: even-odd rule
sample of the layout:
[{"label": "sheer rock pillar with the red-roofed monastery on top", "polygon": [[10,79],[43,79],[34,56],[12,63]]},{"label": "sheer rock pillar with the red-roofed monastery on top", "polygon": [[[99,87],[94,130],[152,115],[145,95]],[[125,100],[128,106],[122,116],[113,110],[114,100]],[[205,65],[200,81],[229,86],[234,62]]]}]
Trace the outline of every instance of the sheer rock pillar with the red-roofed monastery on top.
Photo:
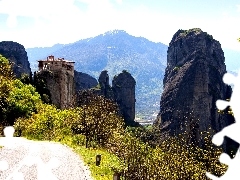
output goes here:
[{"label": "sheer rock pillar with the red-roofed monastery on top", "polygon": [[70,106],[75,94],[74,62],[55,59],[54,56],[38,62],[39,71],[35,73],[34,81],[44,81],[45,92],[49,92],[51,102],[58,108]]}]

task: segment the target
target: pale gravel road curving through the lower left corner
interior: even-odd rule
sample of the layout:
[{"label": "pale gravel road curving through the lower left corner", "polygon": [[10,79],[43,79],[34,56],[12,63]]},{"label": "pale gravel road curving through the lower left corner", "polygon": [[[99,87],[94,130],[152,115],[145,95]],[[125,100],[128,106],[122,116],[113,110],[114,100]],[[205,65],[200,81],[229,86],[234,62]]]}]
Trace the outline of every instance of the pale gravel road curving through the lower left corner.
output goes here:
[{"label": "pale gravel road curving through the lower left corner", "polygon": [[21,137],[0,138],[0,180],[93,180],[70,147]]}]

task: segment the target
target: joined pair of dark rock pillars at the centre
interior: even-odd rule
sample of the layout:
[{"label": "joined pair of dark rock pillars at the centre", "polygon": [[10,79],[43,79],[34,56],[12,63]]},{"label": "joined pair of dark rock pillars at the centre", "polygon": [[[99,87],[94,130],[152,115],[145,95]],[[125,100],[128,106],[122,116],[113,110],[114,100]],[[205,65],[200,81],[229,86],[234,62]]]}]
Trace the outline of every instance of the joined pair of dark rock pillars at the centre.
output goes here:
[{"label": "joined pair of dark rock pillars at the centre", "polygon": [[135,79],[130,73],[124,71],[112,80],[109,85],[109,76],[106,70],[102,71],[98,78],[98,85],[93,88],[94,93],[104,96],[118,104],[119,114],[124,118],[127,126],[138,126],[135,122]]}]

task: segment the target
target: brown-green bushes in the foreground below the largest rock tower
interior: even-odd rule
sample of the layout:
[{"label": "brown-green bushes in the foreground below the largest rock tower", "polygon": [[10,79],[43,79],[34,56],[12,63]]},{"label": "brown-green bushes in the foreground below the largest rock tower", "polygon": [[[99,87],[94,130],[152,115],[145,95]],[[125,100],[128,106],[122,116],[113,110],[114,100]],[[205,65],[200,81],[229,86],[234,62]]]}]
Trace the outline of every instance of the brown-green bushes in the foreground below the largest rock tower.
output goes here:
[{"label": "brown-green bushes in the foreground below the largest rock tower", "polygon": [[127,129],[124,134],[115,133],[106,146],[122,160],[122,177],[125,179],[202,180],[207,179],[206,171],[220,176],[227,169],[218,160],[222,150],[213,147],[207,132],[203,150],[186,144],[184,134],[151,147],[133,136],[137,131],[139,128]]}]

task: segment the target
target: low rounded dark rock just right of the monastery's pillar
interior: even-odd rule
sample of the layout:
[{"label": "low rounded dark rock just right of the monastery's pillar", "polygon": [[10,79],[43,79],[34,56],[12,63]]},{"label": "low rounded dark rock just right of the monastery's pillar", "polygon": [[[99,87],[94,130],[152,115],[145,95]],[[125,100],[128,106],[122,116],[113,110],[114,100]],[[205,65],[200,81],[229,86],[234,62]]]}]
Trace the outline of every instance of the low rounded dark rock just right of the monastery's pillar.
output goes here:
[{"label": "low rounded dark rock just right of the monastery's pillar", "polygon": [[92,76],[78,71],[74,71],[74,81],[77,92],[83,89],[93,88],[98,84],[97,80]]}]

